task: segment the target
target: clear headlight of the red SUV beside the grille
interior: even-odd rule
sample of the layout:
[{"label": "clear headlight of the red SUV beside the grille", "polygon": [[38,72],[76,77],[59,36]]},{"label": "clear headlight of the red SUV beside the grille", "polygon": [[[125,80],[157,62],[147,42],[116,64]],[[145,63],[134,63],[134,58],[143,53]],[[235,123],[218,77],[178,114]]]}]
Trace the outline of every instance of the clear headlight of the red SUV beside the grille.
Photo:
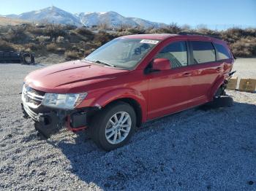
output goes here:
[{"label": "clear headlight of the red SUV beside the grille", "polygon": [[86,98],[87,93],[45,93],[42,105],[59,109],[74,109]]}]

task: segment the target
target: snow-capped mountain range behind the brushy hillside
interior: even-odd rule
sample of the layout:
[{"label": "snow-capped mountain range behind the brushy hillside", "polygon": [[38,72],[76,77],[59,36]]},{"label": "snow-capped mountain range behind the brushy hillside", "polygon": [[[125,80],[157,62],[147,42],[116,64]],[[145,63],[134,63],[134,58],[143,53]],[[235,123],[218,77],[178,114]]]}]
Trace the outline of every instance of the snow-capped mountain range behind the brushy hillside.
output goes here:
[{"label": "snow-capped mountain range behind the brushy hillside", "polygon": [[164,23],[154,23],[149,20],[143,20],[136,17],[124,17],[117,12],[81,12],[72,14],[66,12],[58,7],[48,7],[45,9],[24,12],[20,15],[6,15],[7,17],[18,18],[22,20],[30,20],[40,23],[59,23],[71,24],[75,26],[99,26],[106,23],[111,28],[120,26],[143,26],[149,27],[162,27],[166,26]]}]

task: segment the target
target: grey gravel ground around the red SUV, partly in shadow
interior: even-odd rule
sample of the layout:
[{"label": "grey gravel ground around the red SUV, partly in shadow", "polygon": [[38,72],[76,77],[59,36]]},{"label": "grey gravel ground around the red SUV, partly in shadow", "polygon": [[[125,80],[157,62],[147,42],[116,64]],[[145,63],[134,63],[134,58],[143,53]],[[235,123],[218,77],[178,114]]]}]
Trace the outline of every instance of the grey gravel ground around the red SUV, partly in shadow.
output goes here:
[{"label": "grey gravel ground around the red SUV, partly in shadow", "polygon": [[[238,61],[256,77],[256,59]],[[233,107],[148,122],[103,152],[84,132],[37,140],[19,93],[39,67],[0,64],[0,190],[256,190],[256,93],[228,91]]]}]

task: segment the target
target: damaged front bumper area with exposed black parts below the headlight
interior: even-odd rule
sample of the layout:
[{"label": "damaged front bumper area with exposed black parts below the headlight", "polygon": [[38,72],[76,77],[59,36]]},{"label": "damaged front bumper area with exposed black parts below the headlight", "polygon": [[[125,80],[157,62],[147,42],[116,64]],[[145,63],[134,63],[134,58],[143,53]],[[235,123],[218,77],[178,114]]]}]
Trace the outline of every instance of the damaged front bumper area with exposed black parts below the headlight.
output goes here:
[{"label": "damaged front bumper area with exposed black parts below the headlight", "polygon": [[73,132],[87,128],[91,116],[98,111],[97,107],[63,110],[39,106],[37,109],[33,109],[24,102],[21,104],[21,109],[23,117],[34,120],[34,128],[46,139],[59,132],[63,127]]}]

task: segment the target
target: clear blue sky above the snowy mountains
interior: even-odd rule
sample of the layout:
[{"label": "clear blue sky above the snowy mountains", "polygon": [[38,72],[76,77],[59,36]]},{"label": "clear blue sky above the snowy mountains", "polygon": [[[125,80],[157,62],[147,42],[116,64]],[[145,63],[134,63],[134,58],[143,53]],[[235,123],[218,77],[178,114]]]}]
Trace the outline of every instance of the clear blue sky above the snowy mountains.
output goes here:
[{"label": "clear blue sky above the snowy mountains", "polygon": [[208,28],[256,27],[256,0],[12,0],[1,1],[0,15],[56,6],[68,12],[115,11],[162,23]]}]

